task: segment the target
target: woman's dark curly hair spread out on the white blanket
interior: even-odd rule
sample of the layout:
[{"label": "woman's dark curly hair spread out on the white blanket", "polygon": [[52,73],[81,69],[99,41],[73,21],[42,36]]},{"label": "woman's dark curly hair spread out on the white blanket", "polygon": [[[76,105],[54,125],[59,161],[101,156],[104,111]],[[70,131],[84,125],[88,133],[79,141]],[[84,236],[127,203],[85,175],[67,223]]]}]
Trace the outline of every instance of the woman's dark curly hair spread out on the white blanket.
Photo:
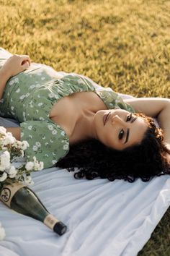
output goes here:
[{"label": "woman's dark curly hair spread out on the white blanket", "polygon": [[75,171],[76,179],[100,177],[109,181],[124,179],[134,182],[140,178],[148,182],[153,176],[170,174],[161,128],[156,127],[153,118],[144,114],[135,114],[146,120],[148,129],[143,140],[124,150],[114,150],[103,145],[99,140],[87,140],[72,145],[68,155],[56,163],[56,166]]}]

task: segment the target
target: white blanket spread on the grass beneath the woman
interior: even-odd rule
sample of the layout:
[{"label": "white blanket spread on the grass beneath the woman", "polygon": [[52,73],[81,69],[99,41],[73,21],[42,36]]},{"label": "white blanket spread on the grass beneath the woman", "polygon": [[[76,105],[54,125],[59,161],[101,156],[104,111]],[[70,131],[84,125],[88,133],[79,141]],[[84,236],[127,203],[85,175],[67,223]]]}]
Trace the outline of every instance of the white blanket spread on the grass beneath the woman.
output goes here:
[{"label": "white blanket spread on the grass beneath the woman", "polygon": [[6,230],[0,256],[135,256],[170,205],[167,175],[146,183],[88,181],[74,179],[65,169],[48,168],[32,177],[32,190],[68,231],[58,236],[0,202]]}]

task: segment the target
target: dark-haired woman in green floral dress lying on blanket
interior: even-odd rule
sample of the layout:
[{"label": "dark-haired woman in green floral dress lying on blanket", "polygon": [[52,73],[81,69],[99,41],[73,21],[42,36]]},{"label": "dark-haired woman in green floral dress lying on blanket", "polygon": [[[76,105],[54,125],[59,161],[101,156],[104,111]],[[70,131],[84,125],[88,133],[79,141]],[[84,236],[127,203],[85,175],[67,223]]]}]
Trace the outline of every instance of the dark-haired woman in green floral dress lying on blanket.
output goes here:
[{"label": "dark-haired woman in green floral dress lying on blanket", "polygon": [[[30,65],[29,56],[0,61],[1,116],[21,123],[7,130],[29,142],[27,159],[79,167],[75,176],[86,179],[148,181],[170,173],[169,99],[123,102],[112,90],[97,92],[87,77]],[[157,117],[164,135],[148,116]]]}]

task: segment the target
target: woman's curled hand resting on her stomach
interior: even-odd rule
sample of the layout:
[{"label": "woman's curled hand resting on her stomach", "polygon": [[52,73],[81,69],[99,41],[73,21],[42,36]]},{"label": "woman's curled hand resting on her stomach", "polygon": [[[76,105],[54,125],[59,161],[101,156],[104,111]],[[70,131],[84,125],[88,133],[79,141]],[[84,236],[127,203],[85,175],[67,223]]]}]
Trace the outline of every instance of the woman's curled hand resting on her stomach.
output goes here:
[{"label": "woman's curled hand resting on her stomach", "polygon": [[31,60],[28,55],[15,54],[7,59],[4,66],[1,67],[1,72],[4,72],[10,78],[30,67],[30,63]]}]

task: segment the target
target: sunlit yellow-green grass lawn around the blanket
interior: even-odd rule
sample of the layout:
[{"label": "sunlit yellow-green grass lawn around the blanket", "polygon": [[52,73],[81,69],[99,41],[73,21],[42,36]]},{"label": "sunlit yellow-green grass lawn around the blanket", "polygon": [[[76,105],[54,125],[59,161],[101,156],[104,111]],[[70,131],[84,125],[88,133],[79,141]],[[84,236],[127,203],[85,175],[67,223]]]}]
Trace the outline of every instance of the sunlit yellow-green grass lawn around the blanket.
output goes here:
[{"label": "sunlit yellow-green grass lawn around the blanket", "polygon": [[[170,1],[0,0],[0,46],[133,96],[170,98]],[[170,255],[170,210],[138,255]]]}]

